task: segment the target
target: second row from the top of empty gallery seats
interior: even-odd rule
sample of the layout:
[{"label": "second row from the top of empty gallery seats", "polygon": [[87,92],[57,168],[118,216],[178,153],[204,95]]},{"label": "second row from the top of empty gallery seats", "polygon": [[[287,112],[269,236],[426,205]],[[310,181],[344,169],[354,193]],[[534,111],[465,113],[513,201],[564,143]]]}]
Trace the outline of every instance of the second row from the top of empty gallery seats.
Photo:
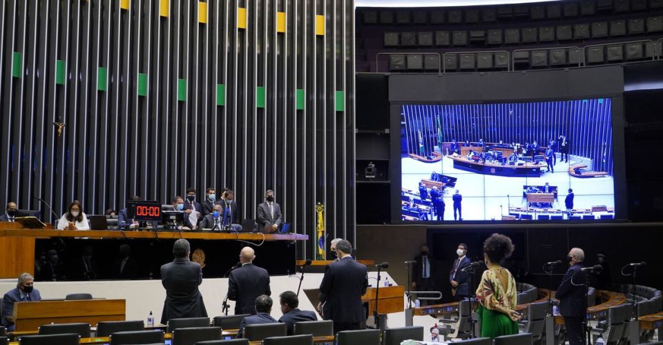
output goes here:
[{"label": "second row from the top of empty gallery seats", "polygon": [[624,37],[657,32],[663,32],[663,16],[532,28],[385,32],[384,46],[389,48],[499,46]]}]

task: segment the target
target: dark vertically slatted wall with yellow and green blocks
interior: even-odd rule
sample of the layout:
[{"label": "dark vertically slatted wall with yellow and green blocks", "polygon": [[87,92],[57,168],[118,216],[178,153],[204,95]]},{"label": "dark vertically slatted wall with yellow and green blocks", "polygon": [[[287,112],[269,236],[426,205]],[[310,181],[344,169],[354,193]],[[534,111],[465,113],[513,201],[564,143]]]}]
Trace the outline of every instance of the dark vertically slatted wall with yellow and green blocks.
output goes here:
[{"label": "dark vertically slatted wall with yellow and green blocks", "polygon": [[320,202],[354,241],[354,1],[7,0],[0,24],[0,201],[227,187],[253,218],[273,189],[296,232]]}]

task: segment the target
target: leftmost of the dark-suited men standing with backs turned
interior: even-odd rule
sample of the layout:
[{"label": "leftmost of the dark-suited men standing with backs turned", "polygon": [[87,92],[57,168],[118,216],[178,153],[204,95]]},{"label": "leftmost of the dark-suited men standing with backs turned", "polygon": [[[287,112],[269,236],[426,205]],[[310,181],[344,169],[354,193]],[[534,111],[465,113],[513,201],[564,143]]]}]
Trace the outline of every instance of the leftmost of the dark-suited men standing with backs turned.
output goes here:
[{"label": "leftmost of the dark-suited men standing with backs turned", "polygon": [[191,262],[191,245],[186,239],[177,239],[173,244],[175,259],[161,266],[161,284],[166,288],[164,311],[161,323],[180,317],[206,317],[207,311],[198,286],[202,284],[202,268]]}]

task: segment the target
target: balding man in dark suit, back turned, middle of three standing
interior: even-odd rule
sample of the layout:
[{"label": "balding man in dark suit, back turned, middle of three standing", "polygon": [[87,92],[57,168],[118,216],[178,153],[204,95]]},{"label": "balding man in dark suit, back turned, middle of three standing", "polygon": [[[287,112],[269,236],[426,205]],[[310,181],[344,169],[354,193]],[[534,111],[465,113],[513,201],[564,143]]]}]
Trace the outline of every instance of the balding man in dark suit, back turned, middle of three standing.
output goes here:
[{"label": "balding man in dark suit, back turned, middle of three standing", "polygon": [[228,276],[228,299],[236,301],[235,315],[256,315],[256,308],[253,306],[256,297],[271,295],[269,273],[265,268],[253,265],[254,259],[256,259],[256,252],[253,251],[253,248],[242,248],[240,252],[242,266],[232,270]]}]

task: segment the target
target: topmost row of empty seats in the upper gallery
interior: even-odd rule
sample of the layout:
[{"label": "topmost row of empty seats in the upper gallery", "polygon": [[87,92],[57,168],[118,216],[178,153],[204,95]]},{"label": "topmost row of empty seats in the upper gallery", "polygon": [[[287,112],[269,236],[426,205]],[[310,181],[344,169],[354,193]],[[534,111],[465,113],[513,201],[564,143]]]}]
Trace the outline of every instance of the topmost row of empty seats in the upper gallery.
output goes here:
[{"label": "topmost row of empty seats in the upper gallery", "polygon": [[[561,1],[560,1],[561,2]],[[663,0],[584,0],[564,3],[532,4],[445,10],[421,9],[363,9],[366,24],[461,24],[493,23],[496,21],[523,21],[593,16],[597,13],[625,13],[663,8]]]}]

